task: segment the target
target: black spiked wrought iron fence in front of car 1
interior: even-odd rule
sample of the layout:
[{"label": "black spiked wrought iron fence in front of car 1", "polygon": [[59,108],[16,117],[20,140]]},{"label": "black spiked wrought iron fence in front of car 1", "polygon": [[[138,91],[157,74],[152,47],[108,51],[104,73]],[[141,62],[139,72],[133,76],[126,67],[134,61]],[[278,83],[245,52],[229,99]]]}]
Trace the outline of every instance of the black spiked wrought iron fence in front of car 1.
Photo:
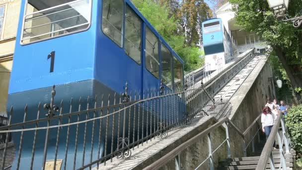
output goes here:
[{"label": "black spiked wrought iron fence in front of car 1", "polygon": [[[215,101],[203,85],[179,92],[163,88],[143,92],[80,98],[55,103],[55,86],[50,103],[14,112],[11,107],[7,125],[0,134],[12,137],[16,159],[12,169],[41,169],[56,166],[64,170],[83,170],[116,157],[126,159],[140,145],[165,138],[168,130],[189,124],[198,116],[226,116],[228,100]],[[43,108],[43,109],[42,109]],[[33,112],[36,110],[36,112]],[[29,120],[28,115],[36,119]],[[22,121],[16,122],[15,119]],[[8,138],[5,139],[1,169],[4,169]],[[56,165],[56,166],[54,166]]]}]

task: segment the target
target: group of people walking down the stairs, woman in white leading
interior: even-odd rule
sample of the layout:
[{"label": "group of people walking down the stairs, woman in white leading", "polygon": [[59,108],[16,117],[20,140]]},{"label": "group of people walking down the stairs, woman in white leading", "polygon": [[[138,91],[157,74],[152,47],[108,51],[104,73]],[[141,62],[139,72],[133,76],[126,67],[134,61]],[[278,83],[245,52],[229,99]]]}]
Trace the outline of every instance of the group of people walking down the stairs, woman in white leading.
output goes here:
[{"label": "group of people walking down the stairs, woman in white leading", "polygon": [[[270,98],[266,99],[265,107],[262,109],[262,115],[261,115],[261,124],[262,124],[262,131],[265,133],[266,140],[268,139],[272,128],[275,124],[275,120],[277,119],[279,114],[286,115],[288,112],[288,108],[285,105],[285,102],[283,100],[280,101],[280,104],[278,104],[278,100],[274,99],[273,102],[271,102]],[[276,144],[274,142],[274,148]]]}]

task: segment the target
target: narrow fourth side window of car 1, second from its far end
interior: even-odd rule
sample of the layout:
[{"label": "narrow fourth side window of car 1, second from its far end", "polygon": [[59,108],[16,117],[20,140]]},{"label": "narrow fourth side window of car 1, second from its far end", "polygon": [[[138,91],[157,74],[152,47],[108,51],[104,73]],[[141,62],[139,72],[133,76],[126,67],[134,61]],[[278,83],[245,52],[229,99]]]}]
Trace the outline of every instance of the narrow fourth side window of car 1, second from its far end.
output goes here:
[{"label": "narrow fourth side window of car 1, second from its far end", "polygon": [[161,46],[162,82],[163,84],[165,84],[166,86],[172,89],[171,63],[172,63],[172,54],[164,45],[162,45]]}]

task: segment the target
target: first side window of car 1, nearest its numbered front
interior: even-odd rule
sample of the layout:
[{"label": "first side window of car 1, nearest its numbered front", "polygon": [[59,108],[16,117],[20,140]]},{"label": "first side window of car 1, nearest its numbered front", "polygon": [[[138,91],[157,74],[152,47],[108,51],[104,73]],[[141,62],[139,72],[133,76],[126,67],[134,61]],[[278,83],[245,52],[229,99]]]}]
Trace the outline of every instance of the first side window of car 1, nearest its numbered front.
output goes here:
[{"label": "first side window of car 1, nearest its numbered front", "polygon": [[124,0],[103,0],[102,30],[123,47]]}]

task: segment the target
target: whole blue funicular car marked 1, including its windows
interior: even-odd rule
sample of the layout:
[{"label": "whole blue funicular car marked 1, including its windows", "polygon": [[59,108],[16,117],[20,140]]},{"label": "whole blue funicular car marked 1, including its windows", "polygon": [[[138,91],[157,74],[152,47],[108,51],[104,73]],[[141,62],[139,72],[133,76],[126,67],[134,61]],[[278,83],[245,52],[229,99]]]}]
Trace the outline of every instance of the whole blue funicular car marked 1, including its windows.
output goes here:
[{"label": "whole blue funicular car marked 1, including its windows", "polygon": [[[128,90],[133,91],[132,96],[134,91],[140,91],[141,98],[142,91],[158,89],[161,82],[165,90],[183,87],[182,59],[130,0],[22,0],[19,18],[7,103],[7,108],[13,106],[11,124],[23,121],[25,104],[26,121],[37,119],[37,105],[50,102],[53,85],[56,85],[55,103],[60,105],[61,100],[69,102],[73,98],[72,111],[79,109],[80,96],[82,101],[91,96],[93,103],[94,96],[103,95],[106,102],[108,94],[118,96],[123,92],[126,82]],[[82,104],[80,109],[86,109],[85,106]],[[69,109],[66,106],[63,112]],[[42,118],[47,118],[43,111],[38,119]],[[79,119],[85,119],[85,115]],[[66,123],[68,119],[61,121]],[[78,121],[76,117],[71,120],[75,121]],[[49,123],[57,125],[58,120]],[[40,126],[46,126],[45,122],[39,123]],[[60,131],[57,153],[57,159],[63,160],[67,170],[78,169],[91,161],[90,153],[85,153],[83,147],[75,150],[75,145],[83,146],[83,143],[76,143],[75,126],[71,127],[69,132],[67,127]],[[78,138],[83,138],[84,125],[78,129]],[[88,124],[87,129],[92,129],[92,125]],[[49,131],[47,156],[43,154],[45,131],[38,131],[34,150],[34,131],[24,132],[20,170],[41,169],[44,159],[55,159],[58,130]],[[68,152],[67,133],[72,134]],[[91,136],[91,133],[88,130],[85,134]],[[13,133],[12,138],[18,151],[20,133]],[[91,139],[85,140],[86,148],[92,147]],[[106,154],[104,142],[100,145],[100,155]],[[98,150],[97,142],[93,147],[93,151]],[[94,154],[92,161],[97,158]],[[15,159],[12,169],[18,167],[17,162]]]}]

